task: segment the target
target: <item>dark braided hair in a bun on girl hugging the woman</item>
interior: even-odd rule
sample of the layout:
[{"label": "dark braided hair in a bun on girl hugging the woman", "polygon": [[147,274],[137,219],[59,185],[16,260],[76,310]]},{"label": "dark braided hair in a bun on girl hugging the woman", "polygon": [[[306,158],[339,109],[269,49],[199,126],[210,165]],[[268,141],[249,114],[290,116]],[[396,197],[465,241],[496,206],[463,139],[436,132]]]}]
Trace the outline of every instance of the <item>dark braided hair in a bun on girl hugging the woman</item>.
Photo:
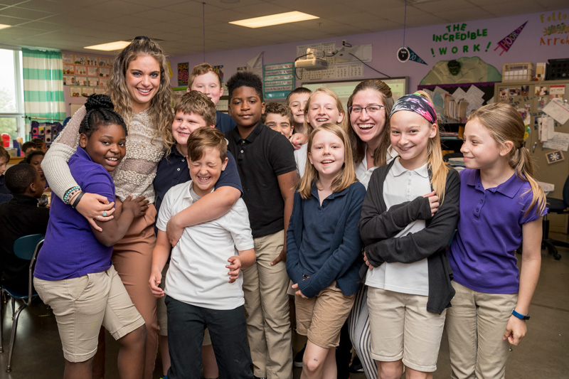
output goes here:
[{"label": "dark braided hair in a bun on girl hugging the woman", "polygon": [[128,134],[127,124],[124,124],[124,119],[115,112],[115,106],[112,105],[111,98],[107,95],[95,94],[87,97],[85,108],[87,109],[87,114],[81,121],[79,133],[91,137],[91,134],[99,127],[117,124],[124,130],[124,135]]}]

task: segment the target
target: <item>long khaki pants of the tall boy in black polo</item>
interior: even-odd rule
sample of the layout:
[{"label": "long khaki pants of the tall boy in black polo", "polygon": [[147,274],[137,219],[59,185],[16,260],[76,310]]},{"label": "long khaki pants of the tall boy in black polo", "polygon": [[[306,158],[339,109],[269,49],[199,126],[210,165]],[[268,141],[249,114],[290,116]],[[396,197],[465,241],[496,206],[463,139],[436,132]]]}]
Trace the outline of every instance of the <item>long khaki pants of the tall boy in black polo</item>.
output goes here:
[{"label": "long khaki pants of the tall boy in black polo", "polygon": [[285,262],[280,254],[284,230],[255,238],[255,263],[243,270],[247,337],[253,373],[259,378],[292,378],[292,336]]}]

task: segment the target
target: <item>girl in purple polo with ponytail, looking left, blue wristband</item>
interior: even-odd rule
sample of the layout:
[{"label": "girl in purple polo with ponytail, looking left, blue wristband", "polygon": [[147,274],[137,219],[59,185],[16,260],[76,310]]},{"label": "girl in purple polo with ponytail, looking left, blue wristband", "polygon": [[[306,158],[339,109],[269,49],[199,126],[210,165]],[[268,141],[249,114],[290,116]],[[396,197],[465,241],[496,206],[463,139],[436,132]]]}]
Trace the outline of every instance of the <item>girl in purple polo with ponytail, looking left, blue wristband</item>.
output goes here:
[{"label": "girl in purple polo with ponytail, looking left, blue wristband", "polygon": [[464,129],[467,169],[449,249],[457,292],[446,326],[453,378],[504,378],[508,346],[526,334],[547,208],[523,134],[519,113],[499,103],[472,112]]}]

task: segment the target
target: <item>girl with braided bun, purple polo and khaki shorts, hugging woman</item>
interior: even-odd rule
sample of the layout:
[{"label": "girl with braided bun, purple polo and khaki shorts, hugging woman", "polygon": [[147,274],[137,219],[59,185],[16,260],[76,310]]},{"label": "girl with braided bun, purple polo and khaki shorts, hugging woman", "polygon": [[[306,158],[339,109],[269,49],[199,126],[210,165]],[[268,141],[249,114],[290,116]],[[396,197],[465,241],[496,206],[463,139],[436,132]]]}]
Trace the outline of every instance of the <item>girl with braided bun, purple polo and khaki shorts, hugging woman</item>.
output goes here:
[{"label": "girl with braided bun, purple polo and khaki shorts, hugging woman", "polygon": [[[92,95],[85,107],[80,148],[71,156],[69,168],[84,191],[115,201],[110,172],[126,152],[127,126],[106,95]],[[83,193],[75,198],[74,207]],[[120,377],[142,378],[144,319],[132,304],[111,255],[112,245],[127,233],[134,218],[144,214],[148,201],[129,196],[115,218],[104,223],[95,220],[102,232],[63,201],[52,197],[46,240],[33,274],[34,287],[58,323],[65,357],[63,377],[92,376],[102,325],[119,342]]]}]

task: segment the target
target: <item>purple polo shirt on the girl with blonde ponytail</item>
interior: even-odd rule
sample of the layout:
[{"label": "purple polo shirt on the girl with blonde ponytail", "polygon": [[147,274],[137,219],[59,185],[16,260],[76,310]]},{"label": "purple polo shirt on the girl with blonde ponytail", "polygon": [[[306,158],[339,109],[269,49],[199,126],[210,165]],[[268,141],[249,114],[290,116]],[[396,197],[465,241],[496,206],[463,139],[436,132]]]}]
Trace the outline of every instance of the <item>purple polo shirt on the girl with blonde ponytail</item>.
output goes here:
[{"label": "purple polo shirt on the girl with blonde ponytail", "polygon": [[479,170],[460,172],[460,218],[448,254],[455,282],[477,292],[519,292],[514,252],[521,245],[523,224],[540,217],[535,210],[526,214],[533,199],[529,189],[514,174],[484,190]]}]

